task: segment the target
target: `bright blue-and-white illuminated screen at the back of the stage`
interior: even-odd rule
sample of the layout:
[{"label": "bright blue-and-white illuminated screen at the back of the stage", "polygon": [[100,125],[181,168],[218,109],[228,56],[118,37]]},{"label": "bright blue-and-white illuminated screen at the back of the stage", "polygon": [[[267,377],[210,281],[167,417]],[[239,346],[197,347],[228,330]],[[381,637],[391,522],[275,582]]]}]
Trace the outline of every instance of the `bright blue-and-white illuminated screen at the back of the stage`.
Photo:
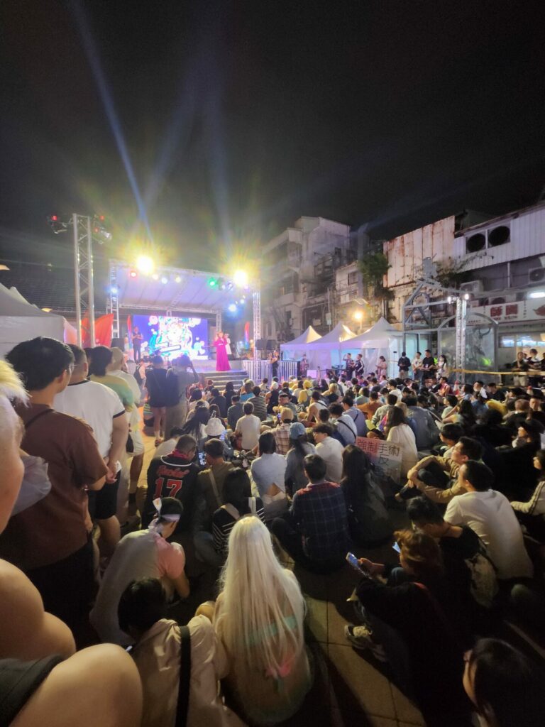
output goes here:
[{"label": "bright blue-and-white illuminated screen at the back of the stage", "polygon": [[187,353],[192,359],[209,358],[208,321],[206,318],[167,316],[132,316],[132,330],[143,336],[142,356],[160,353],[177,358]]}]

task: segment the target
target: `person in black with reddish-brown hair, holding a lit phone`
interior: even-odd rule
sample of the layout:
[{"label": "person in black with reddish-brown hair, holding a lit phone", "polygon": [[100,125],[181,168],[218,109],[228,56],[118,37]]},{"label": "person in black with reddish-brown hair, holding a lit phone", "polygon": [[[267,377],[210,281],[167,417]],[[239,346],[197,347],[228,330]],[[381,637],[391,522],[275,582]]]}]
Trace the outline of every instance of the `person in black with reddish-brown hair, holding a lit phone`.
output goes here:
[{"label": "person in black with reddish-brown hair, holding a lit phone", "polygon": [[[429,535],[403,531],[395,536],[401,568],[360,558],[363,578],[355,589],[360,624],[347,624],[345,635],[355,648],[389,662],[395,681],[416,700],[429,727],[465,725],[469,707],[461,688],[462,648],[437,602],[439,587],[428,587],[444,583],[439,547]],[[387,584],[384,575],[389,575]]]}]

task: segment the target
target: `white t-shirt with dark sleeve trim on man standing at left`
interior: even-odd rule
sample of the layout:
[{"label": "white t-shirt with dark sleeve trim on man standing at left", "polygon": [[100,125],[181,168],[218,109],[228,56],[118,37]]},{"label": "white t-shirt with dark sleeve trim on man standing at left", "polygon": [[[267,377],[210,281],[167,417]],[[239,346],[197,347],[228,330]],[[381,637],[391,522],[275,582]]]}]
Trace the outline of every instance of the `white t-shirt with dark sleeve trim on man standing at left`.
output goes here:
[{"label": "white t-shirt with dark sleeve trim on man standing at left", "polygon": [[115,391],[94,381],[70,384],[55,396],[53,409],[84,419],[92,427],[101,456],[108,457],[112,445],[112,420],[125,414],[125,407]]}]

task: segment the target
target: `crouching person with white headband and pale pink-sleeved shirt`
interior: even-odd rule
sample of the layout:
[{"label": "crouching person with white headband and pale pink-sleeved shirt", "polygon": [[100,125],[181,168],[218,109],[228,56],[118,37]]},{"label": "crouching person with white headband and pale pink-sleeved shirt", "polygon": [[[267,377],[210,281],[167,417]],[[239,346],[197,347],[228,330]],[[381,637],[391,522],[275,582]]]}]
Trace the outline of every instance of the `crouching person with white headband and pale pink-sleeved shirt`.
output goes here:
[{"label": "crouching person with white headband and pale pink-sleeved shirt", "polygon": [[184,507],[174,497],[153,501],[156,517],[149,528],[127,534],[122,538],[108,568],[89,620],[100,640],[129,646],[134,639],[121,631],[118,622],[118,604],[124,590],[134,580],[158,578],[169,597],[176,592],[187,598],[190,592],[185,575],[185,553],[179,543],[169,543]]}]

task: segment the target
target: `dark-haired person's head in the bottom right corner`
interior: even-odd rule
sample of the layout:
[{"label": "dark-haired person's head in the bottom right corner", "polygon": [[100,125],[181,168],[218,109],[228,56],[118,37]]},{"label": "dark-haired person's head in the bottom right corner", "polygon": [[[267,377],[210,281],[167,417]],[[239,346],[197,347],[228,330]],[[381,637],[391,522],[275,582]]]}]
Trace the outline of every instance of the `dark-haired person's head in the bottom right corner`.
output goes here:
[{"label": "dark-haired person's head in the bottom right corner", "polygon": [[482,727],[541,727],[545,678],[505,641],[483,638],[464,654],[464,689]]}]

